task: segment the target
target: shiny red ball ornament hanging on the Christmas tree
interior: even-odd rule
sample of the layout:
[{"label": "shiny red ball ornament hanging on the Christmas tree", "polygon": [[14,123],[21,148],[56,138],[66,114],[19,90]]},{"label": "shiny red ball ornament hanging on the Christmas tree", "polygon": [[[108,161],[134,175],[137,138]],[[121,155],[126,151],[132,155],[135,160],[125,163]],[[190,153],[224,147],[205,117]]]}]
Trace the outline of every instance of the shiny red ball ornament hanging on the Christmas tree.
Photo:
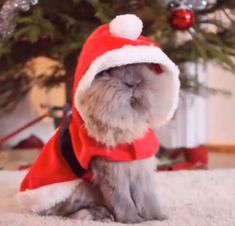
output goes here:
[{"label": "shiny red ball ornament hanging on the Christmas tree", "polygon": [[175,9],[172,11],[170,23],[176,30],[186,31],[195,23],[195,13],[190,9]]}]

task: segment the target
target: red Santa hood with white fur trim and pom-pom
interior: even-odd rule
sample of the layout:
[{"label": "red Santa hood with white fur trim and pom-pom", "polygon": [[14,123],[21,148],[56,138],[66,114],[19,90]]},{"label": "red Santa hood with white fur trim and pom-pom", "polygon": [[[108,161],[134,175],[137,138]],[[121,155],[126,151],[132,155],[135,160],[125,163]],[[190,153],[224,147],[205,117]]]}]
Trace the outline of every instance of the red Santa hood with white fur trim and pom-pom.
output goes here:
[{"label": "red Santa hood with white fur trim and pom-pom", "polygon": [[[153,63],[158,70],[159,106],[158,126],[169,121],[178,105],[178,67],[149,38],[141,36],[142,21],[135,15],[126,14],[114,18],[109,24],[100,26],[86,41],[79,58],[74,81],[74,100],[88,89],[95,76],[104,70],[135,63]],[[77,102],[74,102],[79,112]],[[79,112],[83,118],[82,112]]]}]

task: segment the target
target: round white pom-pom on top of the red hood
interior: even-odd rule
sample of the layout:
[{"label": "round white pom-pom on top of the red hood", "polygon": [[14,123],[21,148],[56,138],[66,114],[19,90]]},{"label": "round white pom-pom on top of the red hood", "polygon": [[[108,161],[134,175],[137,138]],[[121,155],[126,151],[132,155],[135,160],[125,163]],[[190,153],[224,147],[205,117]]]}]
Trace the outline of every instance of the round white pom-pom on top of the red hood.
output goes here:
[{"label": "round white pom-pom on top of the red hood", "polygon": [[136,40],[142,29],[142,21],[133,14],[116,16],[109,24],[109,31],[112,35],[131,40]]}]

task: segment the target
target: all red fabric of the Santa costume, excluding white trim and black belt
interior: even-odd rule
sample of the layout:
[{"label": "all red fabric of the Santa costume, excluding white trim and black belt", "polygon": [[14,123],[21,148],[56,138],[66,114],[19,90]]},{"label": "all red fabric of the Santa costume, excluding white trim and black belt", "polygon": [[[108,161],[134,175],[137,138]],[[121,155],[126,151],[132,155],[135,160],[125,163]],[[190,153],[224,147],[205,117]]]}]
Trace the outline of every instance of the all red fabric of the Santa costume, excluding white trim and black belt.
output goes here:
[{"label": "all red fabric of the Santa costume, excluding white trim and black belt", "polygon": [[[108,51],[122,48],[125,45],[158,46],[156,43],[143,36],[140,36],[137,40],[114,37],[110,34],[107,24],[100,26],[91,34],[83,47],[75,73],[73,92],[75,92],[81,78],[97,57]],[[161,68],[158,67],[158,70],[160,71]],[[100,156],[110,161],[132,161],[149,158],[153,156],[159,148],[158,140],[154,132],[150,130],[144,137],[134,141],[133,144],[118,145],[112,150],[107,150],[104,145],[97,143],[87,135],[84,122],[74,106],[72,108],[72,121],[69,130],[75,155],[84,169],[89,168],[89,163],[95,156]],[[76,179],[76,175],[71,171],[60,153],[58,134],[59,131],[56,132],[43,148],[36,163],[32,166],[22,182],[21,191]],[[89,175],[86,175],[86,179],[87,178],[89,178]]]}]

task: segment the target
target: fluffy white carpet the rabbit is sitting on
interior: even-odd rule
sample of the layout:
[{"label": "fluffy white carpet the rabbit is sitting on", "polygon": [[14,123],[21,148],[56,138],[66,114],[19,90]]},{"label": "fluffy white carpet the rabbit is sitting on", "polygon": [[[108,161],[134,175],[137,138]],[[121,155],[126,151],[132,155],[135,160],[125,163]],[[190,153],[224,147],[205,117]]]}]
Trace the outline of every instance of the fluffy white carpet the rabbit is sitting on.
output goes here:
[{"label": "fluffy white carpet the rabbit is sitting on", "polygon": [[[1,226],[123,225],[25,213],[15,200],[24,174],[25,172],[0,171]],[[156,176],[159,181],[159,199],[168,220],[139,225],[235,226],[235,170],[160,172]]]}]

